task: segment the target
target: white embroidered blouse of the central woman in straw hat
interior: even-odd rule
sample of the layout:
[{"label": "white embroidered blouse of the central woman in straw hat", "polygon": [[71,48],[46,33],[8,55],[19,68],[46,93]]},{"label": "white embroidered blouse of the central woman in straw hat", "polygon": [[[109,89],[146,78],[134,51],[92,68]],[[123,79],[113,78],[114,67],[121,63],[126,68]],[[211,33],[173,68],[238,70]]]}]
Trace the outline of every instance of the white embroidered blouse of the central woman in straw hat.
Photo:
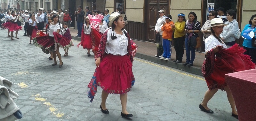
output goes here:
[{"label": "white embroidered blouse of the central woman in straw hat", "polygon": [[112,29],[108,30],[107,44],[105,48],[105,52],[107,54],[124,56],[128,53],[128,37],[125,36],[124,31],[126,30],[123,30],[123,34],[116,34],[116,32],[114,31],[114,35],[117,38],[115,40],[112,40]]}]

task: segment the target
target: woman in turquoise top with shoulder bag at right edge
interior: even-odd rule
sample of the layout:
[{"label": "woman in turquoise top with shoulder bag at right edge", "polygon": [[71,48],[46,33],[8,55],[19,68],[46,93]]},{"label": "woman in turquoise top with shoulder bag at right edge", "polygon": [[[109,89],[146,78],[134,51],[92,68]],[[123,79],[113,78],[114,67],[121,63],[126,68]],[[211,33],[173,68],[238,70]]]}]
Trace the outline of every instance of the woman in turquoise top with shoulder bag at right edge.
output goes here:
[{"label": "woman in turquoise top with shoulder bag at right edge", "polygon": [[[256,14],[252,15],[251,19],[249,20],[249,24],[244,26],[244,30],[241,35],[247,29],[252,29],[254,32],[254,37],[252,39],[256,39]],[[252,45],[252,40],[244,39],[243,46],[244,49],[246,49],[244,54],[251,56],[252,62],[256,63],[256,47]]]}]

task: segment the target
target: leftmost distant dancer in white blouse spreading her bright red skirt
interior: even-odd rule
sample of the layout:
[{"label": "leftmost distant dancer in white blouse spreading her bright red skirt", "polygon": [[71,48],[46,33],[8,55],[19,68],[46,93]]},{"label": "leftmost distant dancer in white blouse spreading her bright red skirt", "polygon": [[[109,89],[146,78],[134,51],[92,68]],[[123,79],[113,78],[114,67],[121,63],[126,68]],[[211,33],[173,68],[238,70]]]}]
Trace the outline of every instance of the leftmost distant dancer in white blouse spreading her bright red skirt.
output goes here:
[{"label": "leftmost distant dancer in white blouse spreading her bright red skirt", "polygon": [[14,40],[12,38],[13,31],[16,31],[15,38],[19,39],[17,37],[17,35],[18,35],[18,31],[22,30],[22,26],[18,26],[17,21],[18,21],[20,15],[19,14],[15,15],[15,11],[12,11],[11,13],[12,13],[12,15],[10,16],[10,22],[6,22],[6,23],[2,24],[2,26],[4,28],[7,28],[11,32],[11,40]]}]

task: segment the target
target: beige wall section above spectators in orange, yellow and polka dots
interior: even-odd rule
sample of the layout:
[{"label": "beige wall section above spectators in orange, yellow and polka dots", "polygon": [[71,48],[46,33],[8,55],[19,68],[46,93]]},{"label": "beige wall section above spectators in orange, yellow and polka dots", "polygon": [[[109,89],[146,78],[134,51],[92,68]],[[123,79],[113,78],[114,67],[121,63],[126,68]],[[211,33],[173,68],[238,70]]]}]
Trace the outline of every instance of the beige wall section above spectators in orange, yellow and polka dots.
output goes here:
[{"label": "beige wall section above spectators in orange, yellow and polka dots", "polygon": [[[178,14],[185,14],[188,20],[188,13],[193,11],[196,13],[197,20],[201,23],[201,0],[171,0],[170,15],[172,15],[173,22],[178,20]],[[169,13],[166,13],[168,15]]]}]

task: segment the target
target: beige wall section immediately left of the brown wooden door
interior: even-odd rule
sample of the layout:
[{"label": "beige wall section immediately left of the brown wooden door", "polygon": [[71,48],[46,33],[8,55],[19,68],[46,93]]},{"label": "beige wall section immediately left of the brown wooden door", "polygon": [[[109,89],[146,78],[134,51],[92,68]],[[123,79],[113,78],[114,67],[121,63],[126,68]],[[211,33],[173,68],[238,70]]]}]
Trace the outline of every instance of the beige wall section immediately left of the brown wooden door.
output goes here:
[{"label": "beige wall section immediately left of the brown wooden door", "polygon": [[143,22],[144,0],[126,0],[125,14],[128,21]]}]

